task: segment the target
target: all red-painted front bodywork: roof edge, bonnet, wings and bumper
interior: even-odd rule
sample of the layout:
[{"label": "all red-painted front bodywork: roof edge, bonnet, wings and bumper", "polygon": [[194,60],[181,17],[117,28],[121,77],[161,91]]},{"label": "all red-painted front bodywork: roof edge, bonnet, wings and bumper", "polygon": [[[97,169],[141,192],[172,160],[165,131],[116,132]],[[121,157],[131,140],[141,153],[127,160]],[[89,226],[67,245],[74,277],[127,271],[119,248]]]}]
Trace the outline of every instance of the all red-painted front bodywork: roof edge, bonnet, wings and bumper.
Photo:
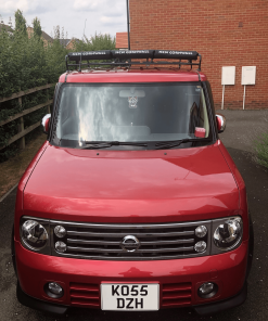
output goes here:
[{"label": "all red-painted front bodywork: roof edge, bonnet, wings and bumper", "polygon": [[[61,82],[199,81],[194,72],[120,70],[62,75]],[[204,74],[201,79],[206,80]],[[234,251],[197,258],[161,261],[103,261],[40,255],[22,247],[23,215],[85,222],[182,222],[240,215],[243,243]],[[17,190],[15,251],[18,280],[28,295],[71,305],[69,293],[85,285],[92,307],[100,307],[101,282],[158,282],[165,297],[180,288],[181,305],[197,305],[235,295],[245,281],[248,243],[244,181],[222,143],[158,151],[76,150],[46,142],[30,163]],[[62,299],[49,298],[43,284],[63,285]],[[212,299],[197,287],[216,282]],[[69,283],[72,282],[72,288]],[[81,283],[81,284],[80,284]],[[91,292],[90,292],[91,291]],[[171,291],[171,292],[170,292]],[[190,292],[190,295],[189,295]],[[171,294],[170,294],[171,293]],[[73,300],[74,303],[75,300]]]}]

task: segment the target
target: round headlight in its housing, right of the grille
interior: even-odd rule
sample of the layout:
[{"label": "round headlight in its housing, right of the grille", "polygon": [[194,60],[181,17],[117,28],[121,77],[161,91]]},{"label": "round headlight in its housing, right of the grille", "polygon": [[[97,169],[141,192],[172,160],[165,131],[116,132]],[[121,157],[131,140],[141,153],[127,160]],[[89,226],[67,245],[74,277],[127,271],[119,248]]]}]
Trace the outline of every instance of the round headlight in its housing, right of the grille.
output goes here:
[{"label": "round headlight in its housing, right of the grille", "polygon": [[213,243],[214,254],[218,253],[217,248],[221,252],[227,252],[237,247],[243,235],[243,221],[241,217],[226,218],[214,221]]}]

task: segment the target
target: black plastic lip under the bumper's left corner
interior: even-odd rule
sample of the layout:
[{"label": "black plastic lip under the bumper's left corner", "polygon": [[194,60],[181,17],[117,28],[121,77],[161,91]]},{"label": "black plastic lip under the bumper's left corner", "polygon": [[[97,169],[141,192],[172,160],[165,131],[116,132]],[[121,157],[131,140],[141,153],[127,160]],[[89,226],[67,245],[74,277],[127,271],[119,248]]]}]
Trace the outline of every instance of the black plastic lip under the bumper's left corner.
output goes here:
[{"label": "black plastic lip under the bumper's left corner", "polygon": [[46,313],[51,313],[54,316],[64,316],[68,310],[68,307],[66,306],[54,305],[27,295],[23,292],[18,281],[16,285],[16,297],[22,305],[28,308],[39,310]]}]

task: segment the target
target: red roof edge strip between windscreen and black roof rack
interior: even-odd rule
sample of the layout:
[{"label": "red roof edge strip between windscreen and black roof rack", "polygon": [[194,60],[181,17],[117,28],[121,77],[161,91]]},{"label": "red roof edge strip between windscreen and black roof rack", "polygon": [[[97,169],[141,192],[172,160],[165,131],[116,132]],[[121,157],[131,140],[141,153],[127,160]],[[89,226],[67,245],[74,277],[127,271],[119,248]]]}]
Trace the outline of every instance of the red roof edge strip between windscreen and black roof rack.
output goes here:
[{"label": "red roof edge strip between windscreen and black roof rack", "polygon": [[[201,80],[205,81],[206,76],[200,73]],[[90,70],[73,72],[60,77],[60,82],[169,82],[169,81],[199,81],[195,72],[183,72],[174,69],[138,69],[138,70]]]}]

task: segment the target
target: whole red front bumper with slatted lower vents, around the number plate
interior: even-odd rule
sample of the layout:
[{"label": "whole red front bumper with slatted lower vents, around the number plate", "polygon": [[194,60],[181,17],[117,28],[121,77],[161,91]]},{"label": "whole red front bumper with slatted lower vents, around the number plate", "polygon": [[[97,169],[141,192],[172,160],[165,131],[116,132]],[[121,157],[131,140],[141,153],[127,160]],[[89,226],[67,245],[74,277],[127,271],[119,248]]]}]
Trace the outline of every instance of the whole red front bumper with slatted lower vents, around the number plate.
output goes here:
[{"label": "whole red front bumper with slatted lower vents, around the number plate", "polygon": [[[247,252],[246,241],[220,255],[159,261],[103,261],[40,255],[15,241],[17,297],[26,306],[46,311],[52,307],[53,313],[61,314],[72,306],[100,308],[102,282],[157,282],[161,308],[193,307],[206,314],[244,301]],[[50,298],[43,291],[44,284],[52,281],[64,288],[61,299]],[[197,288],[204,282],[217,283],[219,291],[215,297],[197,296]]]}]

